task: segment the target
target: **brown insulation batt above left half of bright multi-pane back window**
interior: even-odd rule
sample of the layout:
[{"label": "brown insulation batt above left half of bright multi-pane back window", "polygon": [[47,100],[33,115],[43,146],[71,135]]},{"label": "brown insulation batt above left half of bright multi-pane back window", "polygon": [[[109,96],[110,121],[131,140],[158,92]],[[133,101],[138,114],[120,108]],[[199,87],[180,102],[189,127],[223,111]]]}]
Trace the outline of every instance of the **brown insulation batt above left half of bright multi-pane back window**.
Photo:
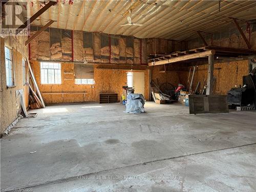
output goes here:
[{"label": "brown insulation batt above left half of bright multi-pane back window", "polygon": [[38,36],[38,59],[50,59],[50,34],[44,31]]}]

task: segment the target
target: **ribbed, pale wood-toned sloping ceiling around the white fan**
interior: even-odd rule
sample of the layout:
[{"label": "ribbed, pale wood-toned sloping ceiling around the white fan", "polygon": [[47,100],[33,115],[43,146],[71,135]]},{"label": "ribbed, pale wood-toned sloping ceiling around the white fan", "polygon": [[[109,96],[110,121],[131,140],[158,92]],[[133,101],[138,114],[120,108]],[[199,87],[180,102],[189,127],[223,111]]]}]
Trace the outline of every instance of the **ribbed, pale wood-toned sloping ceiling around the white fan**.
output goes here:
[{"label": "ribbed, pale wood-toned sloping ceiling around the white fan", "polygon": [[[44,1],[28,2],[30,15],[44,6]],[[232,18],[241,23],[256,19],[256,1],[74,0],[73,5],[68,0],[65,4],[63,0],[59,2],[32,24],[42,26],[53,19],[57,21],[51,25],[54,28],[183,40],[196,31],[209,33],[225,28],[232,24]],[[129,10],[133,23],[143,26],[120,27],[127,24]]]}]

